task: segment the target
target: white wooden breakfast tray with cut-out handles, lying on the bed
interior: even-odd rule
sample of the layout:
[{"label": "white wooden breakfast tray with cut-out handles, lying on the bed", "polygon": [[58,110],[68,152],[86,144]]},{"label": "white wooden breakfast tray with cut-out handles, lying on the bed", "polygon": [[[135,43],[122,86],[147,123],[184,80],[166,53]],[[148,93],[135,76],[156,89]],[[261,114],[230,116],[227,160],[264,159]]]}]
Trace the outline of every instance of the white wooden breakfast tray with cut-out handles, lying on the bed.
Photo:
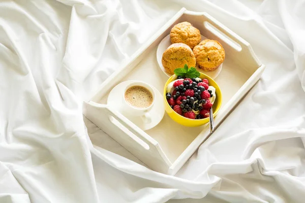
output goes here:
[{"label": "white wooden breakfast tray with cut-out handles, lying on the bed", "polygon": [[250,44],[207,13],[181,9],[123,67],[113,73],[83,103],[83,114],[115,141],[139,158],[152,170],[174,175],[197,148],[211,135],[208,125],[185,127],[167,114],[154,128],[143,131],[115,109],[107,106],[110,90],[120,82],[142,80],[163,92],[168,77],[160,70],[156,49],[173,25],[188,21],[203,36],[219,41],[226,52],[223,69],[216,78],[223,93],[223,106],[215,117],[216,130],[239,100],[259,80],[265,66],[255,56]]}]

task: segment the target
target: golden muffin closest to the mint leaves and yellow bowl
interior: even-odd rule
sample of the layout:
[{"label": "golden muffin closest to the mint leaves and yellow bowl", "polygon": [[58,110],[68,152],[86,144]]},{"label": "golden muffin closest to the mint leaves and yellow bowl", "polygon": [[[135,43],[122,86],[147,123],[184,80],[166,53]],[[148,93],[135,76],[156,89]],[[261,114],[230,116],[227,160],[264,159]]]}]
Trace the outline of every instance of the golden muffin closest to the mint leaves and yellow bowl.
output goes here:
[{"label": "golden muffin closest to the mint leaves and yellow bowl", "polygon": [[184,67],[185,64],[189,67],[195,67],[196,59],[188,45],[175,43],[170,45],[163,53],[162,64],[165,71],[173,75],[175,69]]}]

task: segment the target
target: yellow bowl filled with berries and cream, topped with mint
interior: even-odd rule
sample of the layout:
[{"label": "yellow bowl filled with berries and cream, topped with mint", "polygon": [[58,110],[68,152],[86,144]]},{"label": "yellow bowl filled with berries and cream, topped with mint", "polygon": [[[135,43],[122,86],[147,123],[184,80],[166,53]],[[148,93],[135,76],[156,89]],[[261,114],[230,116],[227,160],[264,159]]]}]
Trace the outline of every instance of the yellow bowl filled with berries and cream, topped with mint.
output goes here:
[{"label": "yellow bowl filled with berries and cream, topped with mint", "polygon": [[164,102],[167,114],[177,123],[195,127],[209,122],[209,109],[214,116],[222,104],[218,84],[194,67],[174,71],[164,86]]}]

